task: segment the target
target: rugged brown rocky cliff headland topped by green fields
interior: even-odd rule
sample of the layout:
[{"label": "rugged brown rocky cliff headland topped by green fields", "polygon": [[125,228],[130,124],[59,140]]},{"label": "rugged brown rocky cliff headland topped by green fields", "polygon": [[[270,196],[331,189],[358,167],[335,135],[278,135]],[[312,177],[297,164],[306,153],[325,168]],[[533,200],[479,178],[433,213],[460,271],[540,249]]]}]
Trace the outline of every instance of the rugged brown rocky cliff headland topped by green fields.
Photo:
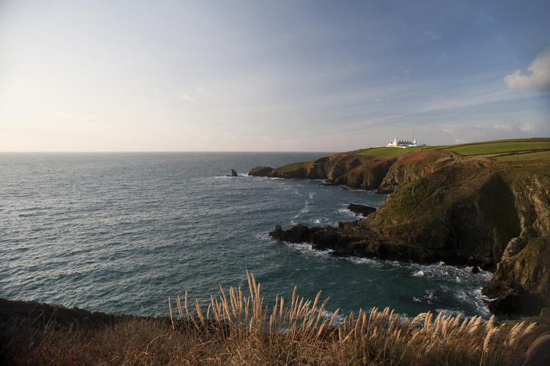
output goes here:
[{"label": "rugged brown rocky cliff headland topped by green fields", "polygon": [[[314,248],[481,266],[495,271],[484,289],[496,298],[493,312],[535,314],[550,305],[550,139],[366,149],[268,174],[391,193],[359,222],[294,228]],[[288,237],[280,227],[272,236]]]}]

